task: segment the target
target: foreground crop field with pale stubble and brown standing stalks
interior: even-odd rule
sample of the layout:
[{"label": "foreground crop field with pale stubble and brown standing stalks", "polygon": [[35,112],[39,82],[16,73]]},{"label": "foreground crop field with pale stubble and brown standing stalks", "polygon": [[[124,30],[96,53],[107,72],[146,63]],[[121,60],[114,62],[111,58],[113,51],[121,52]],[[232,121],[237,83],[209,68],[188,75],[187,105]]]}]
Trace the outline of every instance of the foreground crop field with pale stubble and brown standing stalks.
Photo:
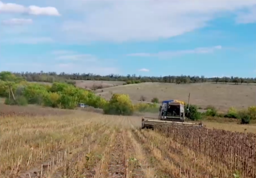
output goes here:
[{"label": "foreground crop field with pale stubble and brown standing stalks", "polygon": [[255,175],[256,134],[248,129],[140,130],[141,117],[21,108],[10,106],[17,114],[1,115],[0,177],[233,178],[235,170],[240,178]]}]

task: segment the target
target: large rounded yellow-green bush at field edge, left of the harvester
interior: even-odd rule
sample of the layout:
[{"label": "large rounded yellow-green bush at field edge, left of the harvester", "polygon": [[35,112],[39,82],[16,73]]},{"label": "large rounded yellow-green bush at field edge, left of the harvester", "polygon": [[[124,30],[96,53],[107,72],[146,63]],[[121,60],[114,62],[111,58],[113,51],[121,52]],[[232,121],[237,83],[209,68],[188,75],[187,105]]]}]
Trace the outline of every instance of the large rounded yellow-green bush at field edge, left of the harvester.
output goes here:
[{"label": "large rounded yellow-green bush at field edge, left of the harvester", "polygon": [[113,94],[110,101],[103,108],[104,114],[112,115],[132,115],[134,106],[128,95]]}]

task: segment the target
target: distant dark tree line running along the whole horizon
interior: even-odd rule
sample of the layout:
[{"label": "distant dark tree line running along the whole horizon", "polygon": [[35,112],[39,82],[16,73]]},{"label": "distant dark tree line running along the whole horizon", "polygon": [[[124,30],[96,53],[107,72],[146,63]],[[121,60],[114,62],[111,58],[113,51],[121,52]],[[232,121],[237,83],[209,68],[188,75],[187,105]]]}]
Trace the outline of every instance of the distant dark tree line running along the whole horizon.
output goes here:
[{"label": "distant dark tree line running along the whole horizon", "polygon": [[109,74],[109,75],[97,75],[93,73],[65,73],[61,72],[57,74],[56,72],[8,72],[3,71],[0,72],[0,79],[6,81],[6,76],[10,76],[9,74],[14,74],[19,79],[24,79],[29,82],[71,82],[72,80],[105,80],[105,81],[139,81],[139,82],[163,82],[163,83],[203,83],[203,82],[222,82],[222,83],[234,83],[234,84],[242,84],[242,83],[256,83],[256,78],[243,78],[243,77],[210,77],[207,78],[205,76],[190,76],[190,75],[181,75],[181,76],[137,76],[133,75],[117,75],[117,74]]}]

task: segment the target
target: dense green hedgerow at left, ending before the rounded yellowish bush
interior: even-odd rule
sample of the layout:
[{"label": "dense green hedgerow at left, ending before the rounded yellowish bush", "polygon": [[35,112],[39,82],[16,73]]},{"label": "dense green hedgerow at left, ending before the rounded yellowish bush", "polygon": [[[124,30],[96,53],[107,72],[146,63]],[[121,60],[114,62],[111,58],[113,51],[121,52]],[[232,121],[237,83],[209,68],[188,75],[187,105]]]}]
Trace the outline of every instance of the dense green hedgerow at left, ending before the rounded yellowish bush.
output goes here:
[{"label": "dense green hedgerow at left, ending before the rounded yellowish bush", "polygon": [[[93,92],[77,88],[72,84],[53,83],[52,86],[38,83],[16,83],[0,81],[0,96],[9,96],[9,84],[16,98],[24,97],[28,104],[37,104],[53,108],[74,109],[79,103],[95,108],[103,108],[107,101]],[[15,104],[6,100],[6,104]]]}]

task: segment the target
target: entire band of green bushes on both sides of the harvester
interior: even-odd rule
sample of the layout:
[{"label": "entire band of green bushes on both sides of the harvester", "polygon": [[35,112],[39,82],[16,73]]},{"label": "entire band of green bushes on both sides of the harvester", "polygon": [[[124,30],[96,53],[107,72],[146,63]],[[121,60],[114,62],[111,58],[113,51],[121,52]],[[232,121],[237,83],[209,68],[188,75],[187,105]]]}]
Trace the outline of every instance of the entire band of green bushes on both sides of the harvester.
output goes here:
[{"label": "entire band of green bushes on both sides of the harvester", "polygon": [[[16,101],[8,99],[9,84],[11,84]],[[0,96],[6,97],[5,104],[27,105],[38,104],[53,108],[75,109],[79,103],[84,103],[95,108],[102,108],[105,114],[132,115],[139,112],[158,112],[159,102],[157,98],[152,99],[153,104],[139,103],[133,105],[129,96],[124,94],[114,94],[110,101],[106,101],[93,92],[77,88],[68,83],[53,83],[52,86],[28,83],[26,81],[5,82],[0,80]],[[230,108],[227,114],[218,114],[217,110],[209,106],[205,113],[198,112],[196,105],[185,105],[185,115],[191,120],[200,120],[203,116],[225,117],[240,119],[242,123],[249,123],[251,119],[256,119],[256,106],[246,110],[237,111]]]}]

